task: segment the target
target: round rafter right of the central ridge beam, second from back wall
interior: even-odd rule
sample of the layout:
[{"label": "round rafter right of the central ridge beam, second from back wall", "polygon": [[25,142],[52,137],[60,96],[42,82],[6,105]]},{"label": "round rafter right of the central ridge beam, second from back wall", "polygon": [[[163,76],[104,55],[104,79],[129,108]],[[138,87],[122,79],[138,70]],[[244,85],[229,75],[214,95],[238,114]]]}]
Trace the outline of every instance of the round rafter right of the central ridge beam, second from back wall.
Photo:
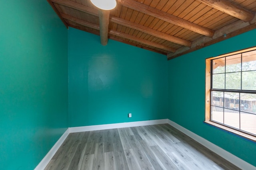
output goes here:
[{"label": "round rafter right of the central ridge beam, second from back wall", "polygon": [[145,26],[140,25],[138,23],[127,21],[127,20],[124,20],[122,18],[118,18],[118,17],[115,17],[115,16],[110,16],[110,21],[112,21],[114,23],[117,23],[117,24],[120,24],[120,25],[123,25],[123,26],[126,26],[126,27],[129,27],[129,28],[132,28],[132,29],[136,29],[138,31],[142,31],[144,33],[153,35],[153,36],[161,38],[161,39],[165,39],[167,41],[170,41],[170,42],[173,42],[173,43],[176,43],[176,44],[184,45],[184,46],[187,46],[187,47],[190,47],[191,44],[192,44],[191,41],[187,41],[185,39],[174,37],[172,35],[162,33],[160,31],[156,31],[155,29],[148,28],[148,27],[145,27]]}]

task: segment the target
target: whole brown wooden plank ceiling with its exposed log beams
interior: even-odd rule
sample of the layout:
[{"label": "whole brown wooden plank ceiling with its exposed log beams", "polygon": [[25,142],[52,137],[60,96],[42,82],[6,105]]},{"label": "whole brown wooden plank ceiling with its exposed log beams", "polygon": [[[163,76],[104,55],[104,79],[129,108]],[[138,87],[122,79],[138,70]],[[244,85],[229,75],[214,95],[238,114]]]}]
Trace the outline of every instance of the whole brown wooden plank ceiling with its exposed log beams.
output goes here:
[{"label": "whole brown wooden plank ceiling with its exposed log beams", "polygon": [[66,27],[161,53],[167,59],[256,28],[256,0],[117,0],[113,10],[90,0],[48,0]]}]

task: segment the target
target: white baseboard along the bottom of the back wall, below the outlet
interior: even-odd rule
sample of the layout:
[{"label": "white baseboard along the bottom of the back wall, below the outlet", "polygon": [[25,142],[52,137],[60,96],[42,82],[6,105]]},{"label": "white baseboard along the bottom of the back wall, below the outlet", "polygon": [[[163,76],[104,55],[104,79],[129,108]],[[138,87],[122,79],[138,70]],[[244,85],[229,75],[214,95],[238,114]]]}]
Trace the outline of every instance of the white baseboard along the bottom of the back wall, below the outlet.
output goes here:
[{"label": "white baseboard along the bottom of the back wall, below the outlet", "polygon": [[81,127],[70,127],[69,132],[86,132],[86,131],[98,131],[104,129],[116,129],[123,127],[136,127],[136,126],[146,126],[146,125],[157,125],[168,123],[169,119],[158,119],[158,120],[148,120],[148,121],[133,121],[125,123],[113,123],[105,125],[92,125],[92,126],[81,126]]}]

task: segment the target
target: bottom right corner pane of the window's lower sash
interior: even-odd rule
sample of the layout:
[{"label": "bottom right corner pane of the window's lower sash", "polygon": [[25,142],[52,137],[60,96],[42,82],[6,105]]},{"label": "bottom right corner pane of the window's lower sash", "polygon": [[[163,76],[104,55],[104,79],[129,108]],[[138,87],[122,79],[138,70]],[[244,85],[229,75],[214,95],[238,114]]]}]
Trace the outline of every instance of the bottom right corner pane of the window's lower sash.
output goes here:
[{"label": "bottom right corner pane of the window's lower sash", "polygon": [[241,130],[256,135],[256,115],[250,113],[240,113]]}]

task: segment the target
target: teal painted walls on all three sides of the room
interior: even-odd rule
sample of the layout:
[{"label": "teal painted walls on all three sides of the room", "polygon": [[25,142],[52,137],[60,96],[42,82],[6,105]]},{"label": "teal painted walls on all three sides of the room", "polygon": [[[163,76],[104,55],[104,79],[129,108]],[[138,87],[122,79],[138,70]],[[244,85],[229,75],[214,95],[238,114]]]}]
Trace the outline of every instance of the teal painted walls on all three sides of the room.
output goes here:
[{"label": "teal painted walls on all three sides of the room", "polygon": [[205,59],[256,46],[256,30],[167,62],[67,31],[46,0],[0,6],[0,169],[34,169],[68,124],[166,118],[256,166],[255,143],[203,123]]}]

